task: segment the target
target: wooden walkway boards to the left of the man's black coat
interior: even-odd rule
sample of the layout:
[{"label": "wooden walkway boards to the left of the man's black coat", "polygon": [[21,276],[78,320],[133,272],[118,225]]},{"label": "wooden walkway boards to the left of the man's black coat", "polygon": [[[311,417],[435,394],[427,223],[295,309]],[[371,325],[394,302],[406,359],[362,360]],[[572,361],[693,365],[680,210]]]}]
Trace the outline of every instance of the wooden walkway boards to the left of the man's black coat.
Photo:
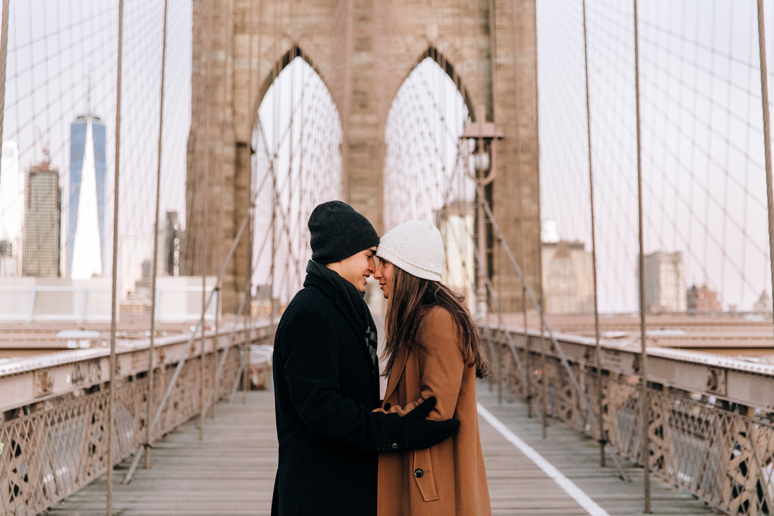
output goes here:
[{"label": "wooden walkway boards to the left of the man's black coat", "polygon": [[[241,516],[269,514],[277,471],[277,431],[272,391],[237,393],[221,402],[216,419],[198,419],[171,432],[152,449],[152,468],[137,469],[121,484],[129,461],[115,471],[116,516]],[[105,477],[54,505],[50,516],[104,516]]]}]

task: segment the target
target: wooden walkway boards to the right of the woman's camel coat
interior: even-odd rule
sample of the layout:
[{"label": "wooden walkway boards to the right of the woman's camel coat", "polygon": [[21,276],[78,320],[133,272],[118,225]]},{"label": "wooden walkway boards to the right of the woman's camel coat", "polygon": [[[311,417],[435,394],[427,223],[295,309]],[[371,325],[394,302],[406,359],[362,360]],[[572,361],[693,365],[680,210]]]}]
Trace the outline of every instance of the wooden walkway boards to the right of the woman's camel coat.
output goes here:
[{"label": "wooden walkway boards to the right of the woman's camel coat", "polygon": [[[510,398],[510,399],[509,399]],[[573,481],[611,516],[642,514],[642,468],[622,459],[631,483],[618,478],[608,456],[608,467],[599,467],[599,445],[562,422],[549,419],[543,440],[539,419],[527,418],[526,405],[509,396],[497,403],[497,393],[485,382],[478,384],[478,401],[505,426]],[[478,418],[484,449],[492,514],[571,515],[588,514],[546,473],[526,458],[497,430]],[[714,514],[703,502],[651,476],[653,514],[706,516]]]}]

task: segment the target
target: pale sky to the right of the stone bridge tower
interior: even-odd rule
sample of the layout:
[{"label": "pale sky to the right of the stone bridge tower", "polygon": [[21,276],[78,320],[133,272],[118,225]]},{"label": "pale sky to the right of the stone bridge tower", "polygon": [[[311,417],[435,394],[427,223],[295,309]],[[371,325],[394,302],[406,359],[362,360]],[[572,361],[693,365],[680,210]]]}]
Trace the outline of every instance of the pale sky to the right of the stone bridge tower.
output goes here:
[{"label": "pale sky to the right of the stone bridge tower", "polygon": [[[689,285],[706,282],[725,306],[750,309],[771,292],[755,2],[640,6],[646,252],[681,251]],[[543,218],[590,248],[581,3],[538,7]],[[587,2],[604,311],[637,306],[632,14],[632,2]]]}]

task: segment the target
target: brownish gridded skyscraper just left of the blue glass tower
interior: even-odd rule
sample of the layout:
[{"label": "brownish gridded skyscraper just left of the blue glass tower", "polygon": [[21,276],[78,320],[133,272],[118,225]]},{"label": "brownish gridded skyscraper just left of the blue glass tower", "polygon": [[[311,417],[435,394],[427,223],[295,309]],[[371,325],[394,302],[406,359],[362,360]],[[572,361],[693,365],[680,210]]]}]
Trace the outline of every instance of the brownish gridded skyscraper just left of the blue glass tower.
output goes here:
[{"label": "brownish gridded skyscraper just left of the blue glass tower", "polygon": [[22,274],[55,278],[61,275],[59,170],[47,161],[30,166],[26,190]]}]

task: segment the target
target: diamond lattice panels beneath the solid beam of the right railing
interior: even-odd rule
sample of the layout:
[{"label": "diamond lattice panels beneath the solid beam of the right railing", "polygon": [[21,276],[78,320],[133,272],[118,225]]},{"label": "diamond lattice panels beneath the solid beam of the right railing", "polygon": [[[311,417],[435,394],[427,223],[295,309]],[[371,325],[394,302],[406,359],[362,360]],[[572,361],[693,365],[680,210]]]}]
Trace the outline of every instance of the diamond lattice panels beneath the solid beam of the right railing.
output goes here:
[{"label": "diamond lattice panels beneath the solid beam of the right railing", "polygon": [[[511,350],[502,331],[485,333],[495,367],[502,374],[495,372],[495,379],[502,378],[504,388],[525,400],[531,393],[533,406],[539,407],[546,381],[548,415],[600,439],[567,370],[553,353],[546,354],[543,363],[539,347],[526,352],[523,335],[513,335],[515,350]],[[551,346],[547,339],[546,346]],[[529,385],[515,366],[514,352],[525,370],[532,371]],[[570,368],[598,417],[601,384],[604,439],[618,453],[642,464],[639,378],[602,371],[600,382],[592,367],[571,363]],[[696,401],[655,388],[649,388],[649,406],[653,473],[725,514],[774,514],[774,425],[762,417],[751,417],[754,407],[737,406],[733,411],[721,399]]]}]

